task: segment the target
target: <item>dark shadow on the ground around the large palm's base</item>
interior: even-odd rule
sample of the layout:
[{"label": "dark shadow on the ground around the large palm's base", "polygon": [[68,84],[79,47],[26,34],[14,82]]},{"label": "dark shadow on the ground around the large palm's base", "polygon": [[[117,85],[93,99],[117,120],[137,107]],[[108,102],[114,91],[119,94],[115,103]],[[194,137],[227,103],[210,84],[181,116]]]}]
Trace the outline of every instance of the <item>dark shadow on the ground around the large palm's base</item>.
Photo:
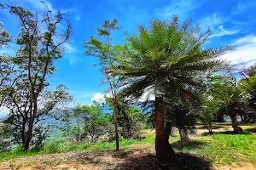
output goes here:
[{"label": "dark shadow on the ground around the large palm's base", "polygon": [[127,170],[150,170],[150,169],[170,169],[170,170],[208,170],[211,169],[212,164],[204,158],[197,156],[177,153],[177,165],[160,164],[156,156],[147,154],[142,156],[135,156],[125,159],[124,162],[119,163],[113,169],[127,169]]}]

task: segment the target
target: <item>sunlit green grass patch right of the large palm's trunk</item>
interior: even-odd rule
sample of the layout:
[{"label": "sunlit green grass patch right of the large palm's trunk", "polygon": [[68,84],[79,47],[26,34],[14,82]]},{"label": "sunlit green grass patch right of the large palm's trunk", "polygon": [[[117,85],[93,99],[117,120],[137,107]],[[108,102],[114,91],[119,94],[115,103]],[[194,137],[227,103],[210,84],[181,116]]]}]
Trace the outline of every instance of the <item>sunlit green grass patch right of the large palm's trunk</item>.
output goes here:
[{"label": "sunlit green grass patch right of the large palm's trunk", "polygon": [[256,133],[252,133],[256,125],[246,124],[243,128],[245,129],[243,134],[234,134],[230,131],[212,135],[203,134],[193,139],[187,146],[182,146],[179,141],[172,143],[172,146],[176,151],[206,157],[216,165],[239,161],[249,161],[256,165]]}]

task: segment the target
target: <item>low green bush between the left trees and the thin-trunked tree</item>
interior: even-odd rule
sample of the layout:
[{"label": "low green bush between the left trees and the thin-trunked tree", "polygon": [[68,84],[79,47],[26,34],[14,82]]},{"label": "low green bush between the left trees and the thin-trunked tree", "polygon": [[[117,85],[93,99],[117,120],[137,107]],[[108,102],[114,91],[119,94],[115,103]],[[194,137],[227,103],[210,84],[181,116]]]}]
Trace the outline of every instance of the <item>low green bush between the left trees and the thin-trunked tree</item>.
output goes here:
[{"label": "low green bush between the left trees and the thin-trunked tree", "polygon": [[72,136],[76,142],[90,137],[90,141],[94,143],[104,134],[107,134],[107,140],[113,139],[111,116],[103,113],[100,103],[94,101],[92,105],[77,105],[73,112],[66,116],[69,126],[65,135]]}]

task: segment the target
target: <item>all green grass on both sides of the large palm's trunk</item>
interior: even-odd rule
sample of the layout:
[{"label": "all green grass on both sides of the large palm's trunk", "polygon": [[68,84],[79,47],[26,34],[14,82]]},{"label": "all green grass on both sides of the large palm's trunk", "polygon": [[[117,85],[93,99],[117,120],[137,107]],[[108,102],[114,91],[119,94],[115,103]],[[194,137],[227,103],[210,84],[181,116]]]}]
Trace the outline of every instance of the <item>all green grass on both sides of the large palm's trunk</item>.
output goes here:
[{"label": "all green grass on both sides of the large palm's trunk", "polygon": [[[216,127],[229,129],[227,124],[214,124]],[[204,157],[214,165],[230,164],[232,162],[249,161],[256,165],[256,124],[245,124],[241,126],[246,133],[234,134],[230,131],[208,134],[202,133],[191,137],[191,144],[183,146],[178,137],[171,138],[172,147],[176,152],[188,153],[190,155]],[[133,150],[134,146],[150,149],[154,154],[154,131],[144,130],[145,139],[120,139],[121,148]],[[178,135],[177,135],[178,136]],[[20,156],[37,156],[43,154],[54,154],[68,151],[89,151],[89,150],[114,150],[115,143],[96,143],[96,144],[65,144],[63,142],[51,142],[42,147],[34,148],[26,152],[17,147],[15,150],[0,153],[0,161],[6,161]],[[111,151],[110,151],[111,152]],[[45,164],[50,162],[45,161]]]}]

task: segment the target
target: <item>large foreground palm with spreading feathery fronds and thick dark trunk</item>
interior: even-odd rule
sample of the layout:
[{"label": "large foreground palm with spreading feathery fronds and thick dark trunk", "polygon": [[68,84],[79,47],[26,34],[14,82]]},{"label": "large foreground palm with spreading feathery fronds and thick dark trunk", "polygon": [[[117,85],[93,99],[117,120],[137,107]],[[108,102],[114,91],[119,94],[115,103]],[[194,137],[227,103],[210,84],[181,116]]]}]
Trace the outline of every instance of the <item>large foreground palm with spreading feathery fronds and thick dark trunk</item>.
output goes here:
[{"label": "large foreground palm with spreading feathery fronds and thick dark trunk", "polygon": [[154,91],[156,156],[160,161],[172,161],[175,154],[165,133],[166,91],[189,97],[189,90],[197,83],[195,77],[219,69],[223,61],[218,56],[231,47],[202,49],[211,31],[201,33],[199,25],[192,26],[192,20],[179,26],[177,16],[170,21],[152,20],[149,28],[139,26],[138,31],[138,35],[127,37],[119,66],[112,73],[122,80],[122,94],[127,99],[139,99]]}]

